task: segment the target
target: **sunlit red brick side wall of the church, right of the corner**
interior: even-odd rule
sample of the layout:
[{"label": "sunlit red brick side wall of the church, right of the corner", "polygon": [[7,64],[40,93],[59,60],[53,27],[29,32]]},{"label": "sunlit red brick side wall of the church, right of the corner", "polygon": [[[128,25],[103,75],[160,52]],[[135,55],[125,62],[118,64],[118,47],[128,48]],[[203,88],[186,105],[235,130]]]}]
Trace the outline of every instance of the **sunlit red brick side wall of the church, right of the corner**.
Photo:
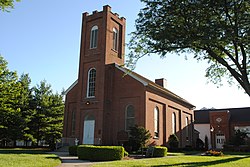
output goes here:
[{"label": "sunlit red brick side wall of the church, right of the corner", "polygon": [[[193,110],[185,107],[182,104],[174,102],[164,96],[157,95],[156,92],[147,89],[146,93],[146,128],[150,130],[151,134],[154,134],[154,121],[153,121],[153,111],[155,107],[160,109],[160,134],[158,139],[152,139],[151,143],[156,143],[157,145],[167,145],[168,137],[172,134],[172,113],[176,113],[176,135],[180,139],[180,147],[185,147],[186,145],[192,145],[192,117]],[[190,133],[189,141],[186,141],[186,136],[184,134],[185,117],[189,117],[190,120]]]}]

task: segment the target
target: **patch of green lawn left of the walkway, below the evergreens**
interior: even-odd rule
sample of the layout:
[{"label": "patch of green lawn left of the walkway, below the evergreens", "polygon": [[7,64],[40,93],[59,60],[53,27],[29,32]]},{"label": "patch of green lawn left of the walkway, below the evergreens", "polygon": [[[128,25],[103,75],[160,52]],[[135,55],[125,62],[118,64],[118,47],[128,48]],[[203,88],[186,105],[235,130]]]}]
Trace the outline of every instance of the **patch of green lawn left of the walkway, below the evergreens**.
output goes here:
[{"label": "patch of green lawn left of the walkway, below the evergreens", "polygon": [[0,149],[0,167],[55,167],[61,163],[42,149]]}]

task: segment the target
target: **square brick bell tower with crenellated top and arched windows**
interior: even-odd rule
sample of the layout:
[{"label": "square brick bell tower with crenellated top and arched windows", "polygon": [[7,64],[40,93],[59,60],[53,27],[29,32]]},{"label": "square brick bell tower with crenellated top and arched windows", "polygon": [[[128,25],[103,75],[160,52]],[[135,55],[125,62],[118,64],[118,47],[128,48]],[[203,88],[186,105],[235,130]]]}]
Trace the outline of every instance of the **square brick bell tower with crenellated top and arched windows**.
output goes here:
[{"label": "square brick bell tower with crenellated top and arched windows", "polygon": [[126,19],[108,5],[100,12],[83,13],[77,98],[80,143],[102,143],[105,65],[124,64],[125,24]]}]

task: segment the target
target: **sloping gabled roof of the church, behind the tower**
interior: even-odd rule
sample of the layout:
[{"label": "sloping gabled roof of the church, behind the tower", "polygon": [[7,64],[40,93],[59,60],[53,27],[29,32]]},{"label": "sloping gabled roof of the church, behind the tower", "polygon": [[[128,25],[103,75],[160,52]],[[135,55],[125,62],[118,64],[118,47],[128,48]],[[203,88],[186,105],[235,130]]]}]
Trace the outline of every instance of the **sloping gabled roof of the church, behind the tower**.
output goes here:
[{"label": "sloping gabled roof of the church, behind the tower", "polygon": [[141,76],[141,75],[139,75],[139,74],[137,74],[137,73],[135,73],[135,72],[133,72],[131,70],[128,70],[128,69],[126,69],[124,67],[121,67],[121,66],[119,66],[117,64],[115,64],[115,67],[117,69],[123,71],[125,74],[131,76],[132,78],[136,79],[137,81],[142,83],[145,87],[149,87],[149,88],[151,88],[153,90],[158,91],[159,93],[162,93],[165,96],[171,97],[174,100],[189,106],[189,108],[191,108],[191,109],[195,108],[195,106],[193,104],[189,103],[187,100],[185,100],[185,99],[181,98],[180,96],[174,94],[173,92],[169,91],[168,89],[166,89],[166,88],[152,82],[151,80],[149,80],[149,79],[147,79],[147,78],[145,78],[145,77],[143,77],[143,76]]}]

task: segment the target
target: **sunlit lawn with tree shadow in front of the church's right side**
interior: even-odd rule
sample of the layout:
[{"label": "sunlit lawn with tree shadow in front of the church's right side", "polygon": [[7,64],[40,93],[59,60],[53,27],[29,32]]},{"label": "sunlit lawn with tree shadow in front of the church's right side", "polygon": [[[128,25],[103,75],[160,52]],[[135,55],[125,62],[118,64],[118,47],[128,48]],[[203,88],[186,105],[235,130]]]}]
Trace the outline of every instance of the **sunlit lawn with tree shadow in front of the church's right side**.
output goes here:
[{"label": "sunlit lawn with tree shadow in front of the church's right side", "polygon": [[[139,167],[139,166],[153,166],[153,167],[247,167],[250,164],[250,155],[226,155],[222,157],[213,156],[199,156],[199,155],[182,155],[183,153],[175,153],[173,156],[165,158],[147,158],[135,159],[113,162],[96,163],[94,167]],[[171,155],[171,154],[170,154]]]}]

